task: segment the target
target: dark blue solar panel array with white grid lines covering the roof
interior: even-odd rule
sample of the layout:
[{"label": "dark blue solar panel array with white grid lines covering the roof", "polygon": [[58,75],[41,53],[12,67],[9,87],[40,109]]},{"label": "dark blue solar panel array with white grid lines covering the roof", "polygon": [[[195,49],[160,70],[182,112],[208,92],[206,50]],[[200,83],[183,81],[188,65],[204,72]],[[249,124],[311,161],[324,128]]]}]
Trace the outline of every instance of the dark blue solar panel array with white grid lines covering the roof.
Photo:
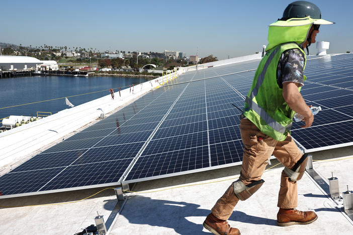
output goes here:
[{"label": "dark blue solar panel array with white grid lines covering the roof", "polygon": [[[172,80],[186,83],[147,93],[0,177],[0,197],[116,185],[241,164],[240,111],[232,103],[243,107],[255,71],[241,71],[255,69],[258,63],[192,71]],[[322,111],[311,128],[295,123],[293,138],[307,152],[351,144],[353,55],[309,60],[306,75],[303,97]]]}]

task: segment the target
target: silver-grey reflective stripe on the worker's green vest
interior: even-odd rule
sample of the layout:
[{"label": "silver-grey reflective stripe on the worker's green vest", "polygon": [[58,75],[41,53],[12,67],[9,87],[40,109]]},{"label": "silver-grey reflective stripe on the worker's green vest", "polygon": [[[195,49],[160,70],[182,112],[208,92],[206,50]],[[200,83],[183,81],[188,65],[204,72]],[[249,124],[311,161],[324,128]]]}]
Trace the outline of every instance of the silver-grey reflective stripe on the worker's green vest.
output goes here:
[{"label": "silver-grey reflective stripe on the worker's green vest", "polygon": [[[267,69],[269,67],[269,65],[271,64],[273,58],[275,57],[276,53],[278,52],[278,50],[280,49],[280,47],[277,47],[269,56],[269,58],[267,59],[266,63],[263,66],[263,69],[260,73],[260,75],[257,78],[256,81],[256,85],[255,87],[251,90],[251,94],[250,94],[250,98],[246,96],[245,98],[245,102],[249,105],[248,108],[246,108],[247,110],[249,110],[250,108],[252,110],[254,110],[261,119],[263,119],[263,121],[265,121],[270,127],[272,127],[274,130],[276,130],[277,132],[280,133],[285,133],[287,130],[290,130],[290,128],[292,127],[292,123],[290,123],[287,127],[283,127],[281,124],[279,124],[278,122],[276,122],[276,120],[274,120],[263,108],[261,108],[260,106],[257,105],[256,102],[253,101],[253,99],[255,98],[255,96],[258,93],[258,89],[260,88],[263,80],[264,80],[264,76],[267,72]],[[247,111],[245,110],[245,111]]]}]

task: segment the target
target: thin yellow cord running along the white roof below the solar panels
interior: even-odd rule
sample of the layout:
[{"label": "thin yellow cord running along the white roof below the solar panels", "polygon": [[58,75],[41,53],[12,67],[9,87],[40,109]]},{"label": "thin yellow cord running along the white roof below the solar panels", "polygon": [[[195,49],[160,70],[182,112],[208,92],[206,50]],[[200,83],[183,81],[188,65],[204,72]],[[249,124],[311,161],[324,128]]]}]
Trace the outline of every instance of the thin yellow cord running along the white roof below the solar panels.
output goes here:
[{"label": "thin yellow cord running along the white roof below the solar panels", "polygon": [[[340,159],[328,159],[328,160],[313,160],[315,162],[333,162],[333,161],[341,161],[341,160],[347,160],[347,159],[352,159],[353,157],[347,157],[347,158],[340,158]],[[280,165],[282,163],[277,163],[276,165],[269,167],[268,169],[264,170],[264,172],[269,171],[270,169]],[[161,192],[161,191],[166,191],[166,190],[170,190],[170,189],[175,189],[175,188],[184,188],[184,187],[190,187],[190,186],[197,186],[197,185],[204,185],[204,184],[213,184],[213,183],[218,183],[218,182],[222,182],[222,181],[228,181],[228,180],[233,180],[233,179],[238,179],[239,177],[233,177],[233,178],[227,178],[227,179],[223,179],[223,180],[217,180],[217,181],[212,181],[212,182],[206,182],[206,183],[199,183],[199,184],[188,184],[188,185],[182,185],[182,186],[175,186],[175,187],[171,187],[171,188],[164,188],[164,189],[160,189],[160,190],[154,190],[154,191],[129,191],[129,190],[124,190],[125,192],[129,192],[131,194],[129,195],[133,195],[132,193],[136,193],[136,194],[143,194],[143,193],[153,193],[153,192]],[[38,204],[38,205],[25,205],[25,206],[3,206],[0,205],[0,207],[3,208],[15,208],[15,207],[27,207],[27,206],[45,206],[45,205],[62,205],[62,204],[70,204],[70,203],[75,203],[75,202],[79,202],[79,201],[83,201],[85,199],[89,199],[90,197],[93,197],[95,195],[97,195],[98,193],[101,193],[107,189],[115,189],[115,188],[105,188],[102,189],[99,192],[96,192],[95,194],[82,198],[80,200],[76,200],[76,201],[69,201],[69,202],[61,202],[61,203],[49,203],[49,204]]]}]

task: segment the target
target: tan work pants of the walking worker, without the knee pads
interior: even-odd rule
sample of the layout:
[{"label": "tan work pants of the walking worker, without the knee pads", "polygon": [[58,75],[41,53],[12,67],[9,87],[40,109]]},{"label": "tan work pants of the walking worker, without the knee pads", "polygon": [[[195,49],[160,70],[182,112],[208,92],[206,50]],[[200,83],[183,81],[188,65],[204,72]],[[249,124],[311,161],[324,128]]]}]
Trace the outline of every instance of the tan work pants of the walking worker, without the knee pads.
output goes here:
[{"label": "tan work pants of the walking worker, without the knee pads", "polygon": [[[263,134],[248,119],[240,120],[240,133],[244,144],[244,154],[239,180],[245,185],[261,179],[262,173],[268,164],[267,160],[272,154],[288,168],[292,168],[302,157],[302,153],[291,136],[288,135],[284,141],[276,141]],[[228,219],[238,201],[239,199],[233,191],[233,184],[231,184],[211,211],[219,219]],[[288,209],[295,208],[297,205],[297,182],[290,181],[288,176],[282,171],[277,206]]]}]

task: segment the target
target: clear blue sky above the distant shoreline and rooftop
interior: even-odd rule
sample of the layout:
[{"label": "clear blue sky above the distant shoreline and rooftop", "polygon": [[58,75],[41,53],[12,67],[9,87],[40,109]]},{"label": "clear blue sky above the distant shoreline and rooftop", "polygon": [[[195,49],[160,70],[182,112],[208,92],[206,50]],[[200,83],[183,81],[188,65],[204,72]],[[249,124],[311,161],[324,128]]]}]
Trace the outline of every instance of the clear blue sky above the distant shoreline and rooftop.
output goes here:
[{"label": "clear blue sky above the distant shoreline and rooftop", "polygon": [[[97,50],[182,51],[219,59],[267,44],[268,25],[293,1],[4,1],[0,42]],[[353,1],[313,0],[323,19],[317,41],[353,52]],[[198,49],[197,49],[198,48]],[[315,45],[311,52],[316,53]]]}]

